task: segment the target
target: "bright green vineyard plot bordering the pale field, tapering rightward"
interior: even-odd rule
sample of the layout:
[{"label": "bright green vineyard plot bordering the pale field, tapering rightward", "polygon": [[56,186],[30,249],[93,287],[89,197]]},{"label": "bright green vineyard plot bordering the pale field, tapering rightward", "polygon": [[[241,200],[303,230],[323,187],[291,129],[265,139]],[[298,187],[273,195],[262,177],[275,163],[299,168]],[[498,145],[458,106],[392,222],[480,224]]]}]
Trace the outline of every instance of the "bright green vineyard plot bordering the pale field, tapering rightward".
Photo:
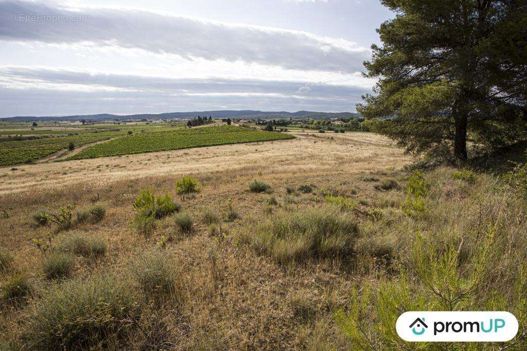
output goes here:
[{"label": "bright green vineyard plot bordering the pale field, tapering rightward", "polygon": [[175,132],[154,132],[125,136],[106,143],[89,146],[70,159],[119,156],[191,147],[265,142],[291,138],[294,138],[294,136],[284,133],[255,131],[234,126],[184,129]]}]

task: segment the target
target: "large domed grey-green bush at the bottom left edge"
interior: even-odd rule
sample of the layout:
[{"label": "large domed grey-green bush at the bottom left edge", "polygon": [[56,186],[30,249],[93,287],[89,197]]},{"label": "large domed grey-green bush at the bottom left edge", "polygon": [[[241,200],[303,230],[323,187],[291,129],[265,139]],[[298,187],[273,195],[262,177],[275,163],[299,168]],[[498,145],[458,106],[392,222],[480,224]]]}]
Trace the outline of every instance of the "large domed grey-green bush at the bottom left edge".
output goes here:
[{"label": "large domed grey-green bush at the bottom left edge", "polygon": [[140,316],[129,286],[110,278],[65,282],[47,292],[28,320],[30,349],[106,349]]}]

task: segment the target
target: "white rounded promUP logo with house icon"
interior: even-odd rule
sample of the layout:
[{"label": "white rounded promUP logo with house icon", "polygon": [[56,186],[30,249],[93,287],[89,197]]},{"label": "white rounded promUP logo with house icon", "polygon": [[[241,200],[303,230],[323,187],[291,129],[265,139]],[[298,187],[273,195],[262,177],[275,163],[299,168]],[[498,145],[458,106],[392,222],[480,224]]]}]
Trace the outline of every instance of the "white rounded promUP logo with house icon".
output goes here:
[{"label": "white rounded promUP logo with house icon", "polygon": [[503,311],[421,311],[403,313],[395,327],[410,342],[505,342],[518,333],[518,320]]}]

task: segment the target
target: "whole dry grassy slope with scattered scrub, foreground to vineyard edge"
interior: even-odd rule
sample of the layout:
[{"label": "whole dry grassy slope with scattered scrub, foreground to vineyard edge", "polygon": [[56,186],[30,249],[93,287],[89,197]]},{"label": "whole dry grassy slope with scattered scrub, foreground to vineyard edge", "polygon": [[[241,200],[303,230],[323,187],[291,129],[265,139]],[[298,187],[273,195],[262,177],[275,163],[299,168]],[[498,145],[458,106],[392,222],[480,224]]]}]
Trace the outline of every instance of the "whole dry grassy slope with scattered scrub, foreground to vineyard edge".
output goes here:
[{"label": "whole dry grassy slope with scattered scrub, foreground to vineyard edge", "polygon": [[[522,333],[524,306],[514,294],[525,293],[518,262],[527,215],[496,177],[459,178],[442,167],[419,178],[430,186],[410,198],[407,183],[419,179],[404,167],[415,160],[384,137],[294,135],[0,168],[0,349],[414,348],[383,333],[382,312],[409,307],[405,289],[431,304],[422,307],[444,307],[427,295],[422,266],[469,297],[454,308],[477,309],[502,292],[496,308],[516,312]],[[183,176],[197,178],[200,191],[178,195]],[[265,191],[259,183],[251,191],[255,179]],[[133,201],[147,187],[180,208],[138,230]],[[75,206],[71,224],[37,224],[35,214],[66,205]],[[102,218],[89,217],[93,206]],[[306,248],[291,239],[288,230],[317,225],[309,216],[325,221],[320,230],[335,243]],[[428,249],[418,236],[436,256],[412,258]],[[83,238],[91,241],[72,244]],[[479,254],[489,245],[500,267],[477,270],[473,258],[492,259]],[[454,246],[455,267],[438,266]]]}]

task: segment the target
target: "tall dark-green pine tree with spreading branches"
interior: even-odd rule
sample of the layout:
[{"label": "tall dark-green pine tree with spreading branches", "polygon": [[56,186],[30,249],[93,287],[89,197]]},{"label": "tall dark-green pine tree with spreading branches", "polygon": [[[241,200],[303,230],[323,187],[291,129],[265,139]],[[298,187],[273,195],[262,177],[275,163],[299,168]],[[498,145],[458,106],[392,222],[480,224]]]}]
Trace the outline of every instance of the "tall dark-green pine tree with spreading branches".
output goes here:
[{"label": "tall dark-green pine tree with spreading branches", "polygon": [[392,117],[378,132],[409,152],[492,150],[527,139],[527,1],[383,0],[367,77],[377,95],[357,111]]}]

